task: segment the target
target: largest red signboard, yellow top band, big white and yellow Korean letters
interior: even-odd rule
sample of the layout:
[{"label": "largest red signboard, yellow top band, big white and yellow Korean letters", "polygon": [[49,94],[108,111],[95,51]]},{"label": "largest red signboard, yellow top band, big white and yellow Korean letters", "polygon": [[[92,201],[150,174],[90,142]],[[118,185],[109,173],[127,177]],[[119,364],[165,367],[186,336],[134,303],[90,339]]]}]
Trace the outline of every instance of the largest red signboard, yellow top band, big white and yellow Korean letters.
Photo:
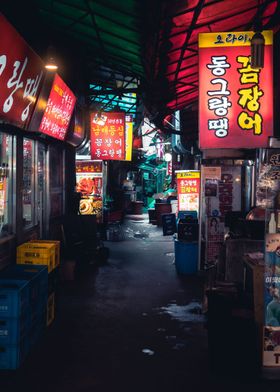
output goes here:
[{"label": "largest red signboard, yellow top band, big white and yellow Korean letters", "polygon": [[264,68],[251,68],[254,33],[199,34],[199,146],[259,148],[273,136],[273,32]]}]

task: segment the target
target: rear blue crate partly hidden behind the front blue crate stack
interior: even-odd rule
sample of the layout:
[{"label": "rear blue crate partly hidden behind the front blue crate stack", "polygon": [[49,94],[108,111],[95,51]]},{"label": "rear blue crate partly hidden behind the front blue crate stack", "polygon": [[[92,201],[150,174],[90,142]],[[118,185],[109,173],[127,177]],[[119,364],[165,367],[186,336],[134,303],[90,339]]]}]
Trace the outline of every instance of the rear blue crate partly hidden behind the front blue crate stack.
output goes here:
[{"label": "rear blue crate partly hidden behind the front blue crate stack", "polygon": [[45,265],[11,264],[0,271],[0,279],[20,279],[29,281],[30,304],[36,306],[48,297],[48,268]]}]

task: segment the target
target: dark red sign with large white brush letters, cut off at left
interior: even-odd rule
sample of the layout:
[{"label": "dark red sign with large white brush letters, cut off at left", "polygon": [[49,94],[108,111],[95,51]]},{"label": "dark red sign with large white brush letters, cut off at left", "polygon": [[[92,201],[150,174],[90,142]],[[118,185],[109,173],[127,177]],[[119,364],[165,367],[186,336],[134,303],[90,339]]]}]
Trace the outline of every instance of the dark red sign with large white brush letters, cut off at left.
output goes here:
[{"label": "dark red sign with large white brush letters, cut off at left", "polygon": [[1,14],[0,35],[0,119],[27,128],[44,64]]}]

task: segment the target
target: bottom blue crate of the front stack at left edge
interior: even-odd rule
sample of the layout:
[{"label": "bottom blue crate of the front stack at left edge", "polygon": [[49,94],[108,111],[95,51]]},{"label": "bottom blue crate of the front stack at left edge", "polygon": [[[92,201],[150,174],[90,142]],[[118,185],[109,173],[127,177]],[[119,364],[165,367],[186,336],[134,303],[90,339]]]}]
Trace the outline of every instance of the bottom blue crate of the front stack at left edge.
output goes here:
[{"label": "bottom blue crate of the front stack at left edge", "polygon": [[30,351],[28,336],[18,344],[0,343],[0,369],[15,370],[20,367]]}]

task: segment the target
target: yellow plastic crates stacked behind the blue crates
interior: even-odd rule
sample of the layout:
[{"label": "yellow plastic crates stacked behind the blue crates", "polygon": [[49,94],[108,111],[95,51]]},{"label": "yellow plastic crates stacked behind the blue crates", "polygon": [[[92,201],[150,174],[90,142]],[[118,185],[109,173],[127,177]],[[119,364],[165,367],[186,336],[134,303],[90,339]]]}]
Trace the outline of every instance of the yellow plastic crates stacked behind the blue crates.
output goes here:
[{"label": "yellow plastic crates stacked behind the blue crates", "polygon": [[48,266],[47,326],[55,318],[60,241],[32,240],[17,248],[17,263],[45,264]]}]

